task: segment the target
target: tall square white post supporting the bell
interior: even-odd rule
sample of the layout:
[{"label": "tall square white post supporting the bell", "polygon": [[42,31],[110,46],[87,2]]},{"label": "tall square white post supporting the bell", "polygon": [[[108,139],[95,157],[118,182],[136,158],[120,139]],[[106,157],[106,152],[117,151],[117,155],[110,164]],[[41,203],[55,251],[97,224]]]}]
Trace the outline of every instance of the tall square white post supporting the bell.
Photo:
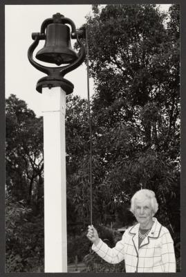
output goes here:
[{"label": "tall square white post supporting the bell", "polygon": [[45,272],[67,272],[66,238],[66,93],[42,89],[44,116]]}]

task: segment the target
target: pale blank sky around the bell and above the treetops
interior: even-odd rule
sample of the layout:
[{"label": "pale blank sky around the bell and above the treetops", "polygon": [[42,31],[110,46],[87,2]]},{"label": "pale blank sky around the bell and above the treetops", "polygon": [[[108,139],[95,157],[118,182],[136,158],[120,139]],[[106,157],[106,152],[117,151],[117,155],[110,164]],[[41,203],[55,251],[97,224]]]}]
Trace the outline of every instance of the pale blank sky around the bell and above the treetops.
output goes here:
[{"label": "pale blank sky around the bell and above the treetops", "polygon": [[[168,10],[169,4],[162,4],[161,10]],[[60,12],[80,28],[86,22],[86,15],[91,15],[91,5],[6,5],[5,10],[5,48],[6,48],[6,98],[11,93],[17,98],[25,100],[28,108],[35,111],[37,116],[42,116],[42,94],[36,91],[37,81],[46,76],[38,71],[28,61],[28,48],[32,44],[32,33],[39,33],[41,24],[45,19],[53,17]],[[76,40],[72,40],[73,43]],[[35,53],[44,45],[39,42]],[[42,62],[38,61],[40,64]],[[50,66],[50,64],[46,64]],[[87,98],[86,65],[82,64],[77,69],[64,76],[74,84],[73,94]],[[90,95],[94,93],[93,80],[90,80]]]}]

